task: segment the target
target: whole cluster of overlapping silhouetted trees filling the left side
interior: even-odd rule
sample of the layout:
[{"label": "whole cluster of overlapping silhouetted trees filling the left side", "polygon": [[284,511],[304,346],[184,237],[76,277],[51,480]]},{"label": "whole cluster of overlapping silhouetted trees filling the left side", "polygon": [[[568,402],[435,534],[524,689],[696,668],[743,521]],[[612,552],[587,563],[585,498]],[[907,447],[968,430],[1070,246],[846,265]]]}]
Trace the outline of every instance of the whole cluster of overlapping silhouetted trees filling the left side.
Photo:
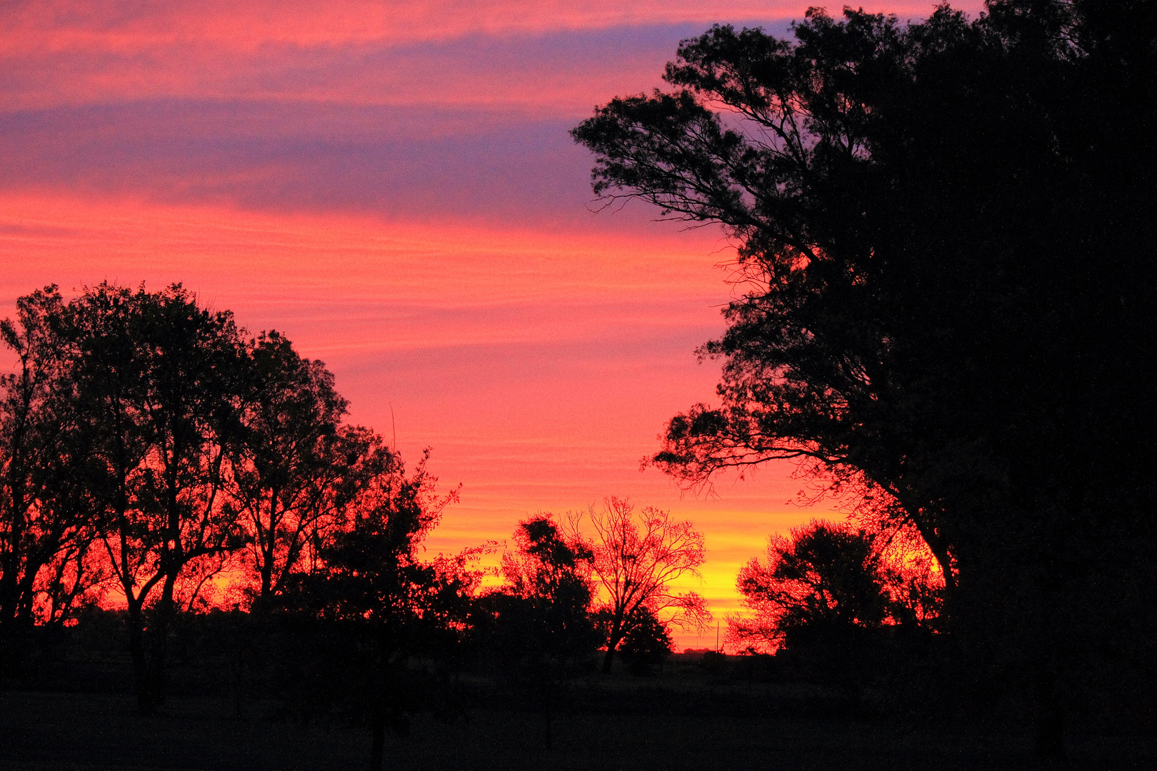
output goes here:
[{"label": "whole cluster of overlapping silhouetted trees filling the left side", "polygon": [[49,287],[0,334],[16,359],[0,379],[0,682],[30,682],[37,630],[115,586],[152,712],[170,647],[228,570],[249,621],[208,628],[235,657],[238,705],[246,660],[282,672],[290,711],[371,726],[379,765],[386,725],[437,702],[415,658],[462,660],[477,588],[463,561],[417,553],[456,496],[435,494],[425,458],[407,475],[345,423],[320,362],[179,286],[69,302]]}]

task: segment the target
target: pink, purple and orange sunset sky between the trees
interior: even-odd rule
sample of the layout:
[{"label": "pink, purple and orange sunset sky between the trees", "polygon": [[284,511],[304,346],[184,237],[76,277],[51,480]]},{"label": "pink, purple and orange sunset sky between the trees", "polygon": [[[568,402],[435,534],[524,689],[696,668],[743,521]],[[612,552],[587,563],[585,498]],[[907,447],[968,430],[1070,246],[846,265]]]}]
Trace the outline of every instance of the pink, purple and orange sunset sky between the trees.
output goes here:
[{"label": "pink, purple and orange sunset sky between the trees", "polygon": [[725,624],[769,534],[843,514],[801,505],[790,462],[712,495],[640,469],[714,398],[694,350],[724,328],[734,244],[599,210],[567,132],[661,86],[680,39],[787,35],[808,5],[0,0],[0,317],[50,283],[180,282],[324,361],[406,458],[432,450],[460,484],[432,553],[628,497],[703,533],[681,585]]}]

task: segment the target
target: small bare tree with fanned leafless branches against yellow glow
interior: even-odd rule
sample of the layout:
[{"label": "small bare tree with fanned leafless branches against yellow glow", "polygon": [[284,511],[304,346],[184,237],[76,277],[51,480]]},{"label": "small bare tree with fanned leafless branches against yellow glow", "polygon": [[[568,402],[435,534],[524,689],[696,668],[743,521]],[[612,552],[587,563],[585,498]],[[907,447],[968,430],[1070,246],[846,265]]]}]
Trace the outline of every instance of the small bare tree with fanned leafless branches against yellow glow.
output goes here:
[{"label": "small bare tree with fanned leafless branches against yellow glow", "polygon": [[703,564],[703,536],[690,521],[673,521],[669,511],[607,498],[603,507],[588,512],[594,527],[592,563],[605,598],[606,655],[610,672],[619,643],[631,624],[644,615],[666,611],[666,623],[702,627],[710,620],[703,599],[694,592],[677,594],[671,583],[685,574],[698,576]]}]

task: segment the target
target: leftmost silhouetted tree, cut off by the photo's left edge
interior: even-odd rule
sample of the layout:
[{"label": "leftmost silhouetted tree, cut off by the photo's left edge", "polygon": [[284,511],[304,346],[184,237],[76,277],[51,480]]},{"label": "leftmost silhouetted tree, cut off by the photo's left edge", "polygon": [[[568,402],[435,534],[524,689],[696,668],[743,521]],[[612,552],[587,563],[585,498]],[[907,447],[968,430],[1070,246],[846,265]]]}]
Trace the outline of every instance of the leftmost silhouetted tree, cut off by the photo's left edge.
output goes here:
[{"label": "leftmost silhouetted tree, cut off by the photo's left edge", "polygon": [[104,577],[91,550],[98,505],[56,287],[0,321],[15,371],[0,376],[0,679],[19,674],[36,622],[59,623]]}]

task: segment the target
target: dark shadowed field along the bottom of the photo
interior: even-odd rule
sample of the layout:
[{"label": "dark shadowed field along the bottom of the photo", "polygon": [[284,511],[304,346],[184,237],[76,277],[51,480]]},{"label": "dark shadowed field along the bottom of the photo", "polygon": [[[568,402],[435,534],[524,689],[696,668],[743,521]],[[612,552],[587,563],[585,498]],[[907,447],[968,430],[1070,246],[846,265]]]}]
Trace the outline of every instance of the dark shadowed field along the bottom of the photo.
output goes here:
[{"label": "dark shadowed field along the bottom of the photo", "polygon": [[[219,698],[172,698],[156,716],[131,697],[0,692],[0,769],[362,769],[369,736],[301,726],[251,703],[241,718]],[[1152,742],[1076,736],[1071,759],[1036,766],[1029,740],[936,736],[880,720],[569,713],[544,749],[538,716],[472,710],[449,725],[419,719],[390,739],[388,769],[1152,769]]]}]

